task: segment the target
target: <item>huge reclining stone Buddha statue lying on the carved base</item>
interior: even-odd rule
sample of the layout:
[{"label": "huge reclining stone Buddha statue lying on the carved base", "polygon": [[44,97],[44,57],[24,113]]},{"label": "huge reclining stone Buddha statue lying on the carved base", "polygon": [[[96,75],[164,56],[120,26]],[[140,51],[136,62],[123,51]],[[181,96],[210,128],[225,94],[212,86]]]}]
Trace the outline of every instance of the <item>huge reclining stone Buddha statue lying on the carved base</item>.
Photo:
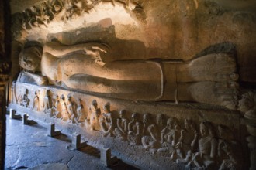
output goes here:
[{"label": "huge reclining stone Buddha statue lying on the carved base", "polygon": [[34,83],[48,80],[65,88],[130,100],[195,101],[232,109],[237,104],[236,59],[227,53],[177,63],[140,60],[144,55],[137,60],[107,61],[108,56],[116,56],[115,47],[93,42],[72,46],[47,42],[43,52],[40,48],[30,46],[19,55],[24,75]]}]

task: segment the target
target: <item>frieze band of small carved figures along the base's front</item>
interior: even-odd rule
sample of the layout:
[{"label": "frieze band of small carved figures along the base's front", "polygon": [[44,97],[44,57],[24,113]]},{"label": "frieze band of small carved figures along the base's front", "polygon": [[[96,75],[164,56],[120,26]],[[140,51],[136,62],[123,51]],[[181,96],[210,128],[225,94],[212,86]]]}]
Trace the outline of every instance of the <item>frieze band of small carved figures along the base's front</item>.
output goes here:
[{"label": "frieze band of small carved figures along the base's front", "polygon": [[[238,163],[243,162],[243,158],[239,155],[244,151],[237,150],[237,148],[241,148],[241,145],[237,140],[238,136],[234,135],[234,133],[239,134],[239,128],[234,127],[234,125],[239,126],[239,124],[224,125],[227,117],[223,113],[220,114],[222,118],[220,115],[217,116],[219,120],[214,123],[206,121],[212,119],[210,117],[214,115],[213,113],[209,114],[210,117],[208,117],[196,111],[194,114],[188,113],[188,117],[175,114],[174,111],[170,113],[170,106],[167,106],[168,109],[164,111],[164,114],[157,114],[157,112],[163,111],[161,107],[158,110],[147,107],[145,107],[147,110],[144,110],[142,107],[142,110],[139,109],[139,111],[145,114],[140,114],[137,112],[139,107],[131,110],[135,107],[130,106],[126,100],[124,100],[123,106],[121,104],[117,107],[118,102],[115,99],[106,98],[104,100],[84,93],[37,87],[26,83],[16,83],[16,85],[20,89],[16,96],[23,93],[23,96],[29,99],[30,96],[34,96],[33,91],[40,91],[37,94],[44,91],[46,96],[39,95],[39,100],[45,99],[47,104],[52,103],[47,110],[54,110],[51,112],[54,113],[53,115],[45,114],[44,107],[42,107],[41,111],[34,113],[36,117],[50,117],[51,121],[62,122],[61,124],[64,122],[76,124],[75,126],[79,125],[86,133],[93,135],[100,133],[102,138],[113,138],[115,141],[126,142],[124,144],[129,145],[128,148],[139,147],[144,151],[150,151],[151,154],[164,156],[171,162],[177,162],[190,168],[240,169],[244,166]],[[31,90],[28,92],[28,89]],[[58,95],[61,95],[61,101],[58,99]],[[50,100],[52,101],[50,102]],[[81,103],[77,105],[77,101]],[[15,100],[13,102],[16,103]],[[33,100],[33,102],[37,102],[37,100]],[[85,102],[86,107],[84,107],[83,102]],[[113,110],[111,109],[112,102]],[[30,107],[33,105],[21,106],[33,110]],[[126,105],[127,107],[125,107]],[[61,107],[62,114],[56,114],[59,113],[57,107]],[[83,110],[82,114],[81,110]],[[79,113],[84,117],[83,121],[78,118]],[[231,113],[227,115],[230,117]],[[238,118],[235,117],[232,118],[234,121]]]}]

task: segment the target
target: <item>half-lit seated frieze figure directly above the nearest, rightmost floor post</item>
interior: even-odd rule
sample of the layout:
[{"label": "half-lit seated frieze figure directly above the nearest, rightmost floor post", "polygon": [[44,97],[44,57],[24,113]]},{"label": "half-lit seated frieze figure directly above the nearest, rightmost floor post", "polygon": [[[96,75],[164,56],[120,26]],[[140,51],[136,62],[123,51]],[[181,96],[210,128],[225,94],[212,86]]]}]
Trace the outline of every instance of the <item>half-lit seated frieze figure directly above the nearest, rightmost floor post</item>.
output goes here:
[{"label": "half-lit seated frieze figure directly above the nearest, rightmost floor post", "polygon": [[108,136],[114,136],[113,131],[116,127],[114,127],[113,120],[112,120],[112,112],[110,111],[110,104],[109,102],[106,103],[103,107],[104,113],[99,118],[99,125],[102,129],[102,132],[104,133],[104,137]]}]

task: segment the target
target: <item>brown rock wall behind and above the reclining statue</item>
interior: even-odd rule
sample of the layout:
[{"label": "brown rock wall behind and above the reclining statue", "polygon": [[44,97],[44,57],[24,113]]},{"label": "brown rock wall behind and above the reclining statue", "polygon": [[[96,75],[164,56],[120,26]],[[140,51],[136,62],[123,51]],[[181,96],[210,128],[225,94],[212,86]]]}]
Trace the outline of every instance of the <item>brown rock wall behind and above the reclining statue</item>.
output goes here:
[{"label": "brown rock wall behind and above the reclining statue", "polygon": [[[250,1],[13,1],[14,38],[64,44],[103,41],[108,59],[180,59],[237,53],[240,80],[255,82],[255,2]],[[65,32],[64,34],[56,34]],[[75,32],[77,37],[74,37]],[[59,35],[59,36],[58,36]],[[130,48],[133,54],[123,51]]]}]

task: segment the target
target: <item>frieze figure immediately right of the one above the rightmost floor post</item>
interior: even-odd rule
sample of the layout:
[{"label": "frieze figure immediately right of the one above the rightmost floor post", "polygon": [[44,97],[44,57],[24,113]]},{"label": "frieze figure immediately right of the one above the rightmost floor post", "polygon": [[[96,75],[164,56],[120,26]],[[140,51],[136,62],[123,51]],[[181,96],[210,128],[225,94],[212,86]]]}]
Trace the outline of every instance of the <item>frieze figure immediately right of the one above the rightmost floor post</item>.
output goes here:
[{"label": "frieze figure immediately right of the one above the rightmost floor post", "polygon": [[115,134],[121,140],[126,140],[128,132],[128,119],[126,119],[126,110],[120,110],[119,118],[116,120],[117,128]]}]

